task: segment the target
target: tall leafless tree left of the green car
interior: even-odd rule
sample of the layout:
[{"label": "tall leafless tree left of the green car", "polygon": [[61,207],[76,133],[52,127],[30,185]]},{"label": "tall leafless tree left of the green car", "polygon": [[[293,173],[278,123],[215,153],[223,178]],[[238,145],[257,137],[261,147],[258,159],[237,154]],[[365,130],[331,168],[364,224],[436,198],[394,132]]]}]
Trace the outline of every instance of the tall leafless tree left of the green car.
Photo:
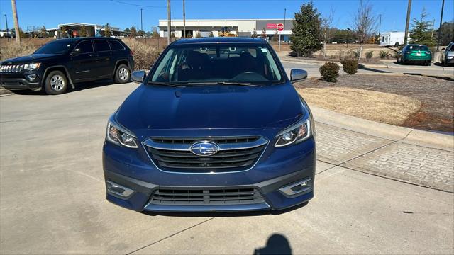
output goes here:
[{"label": "tall leafless tree left of the green car", "polygon": [[360,42],[360,55],[358,60],[361,60],[362,43],[372,35],[372,32],[377,27],[377,18],[372,10],[372,5],[368,1],[360,0],[358,11],[353,17],[352,30],[355,37]]}]

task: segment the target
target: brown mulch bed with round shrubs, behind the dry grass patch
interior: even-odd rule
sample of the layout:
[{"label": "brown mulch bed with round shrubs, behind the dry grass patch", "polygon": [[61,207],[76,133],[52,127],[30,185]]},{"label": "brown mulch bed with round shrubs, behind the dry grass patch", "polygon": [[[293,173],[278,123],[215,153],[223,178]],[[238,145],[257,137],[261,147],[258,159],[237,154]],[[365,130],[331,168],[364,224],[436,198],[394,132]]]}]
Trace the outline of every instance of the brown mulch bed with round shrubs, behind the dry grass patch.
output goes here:
[{"label": "brown mulch bed with round shrubs, behind the dry grass patch", "polygon": [[402,125],[420,130],[454,132],[454,79],[418,75],[341,75],[336,84],[318,78],[295,84],[297,88],[345,86],[410,96],[421,108]]}]

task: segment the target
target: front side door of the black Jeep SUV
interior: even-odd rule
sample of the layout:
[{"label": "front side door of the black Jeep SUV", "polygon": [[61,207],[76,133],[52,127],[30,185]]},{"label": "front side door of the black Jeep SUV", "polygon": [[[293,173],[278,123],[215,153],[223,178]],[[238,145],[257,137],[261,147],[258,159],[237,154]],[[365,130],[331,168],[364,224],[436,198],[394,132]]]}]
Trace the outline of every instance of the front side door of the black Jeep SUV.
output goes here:
[{"label": "front side door of the black Jeep SUV", "polygon": [[83,40],[71,52],[70,73],[73,81],[82,81],[93,77],[96,69],[96,55],[92,40]]}]

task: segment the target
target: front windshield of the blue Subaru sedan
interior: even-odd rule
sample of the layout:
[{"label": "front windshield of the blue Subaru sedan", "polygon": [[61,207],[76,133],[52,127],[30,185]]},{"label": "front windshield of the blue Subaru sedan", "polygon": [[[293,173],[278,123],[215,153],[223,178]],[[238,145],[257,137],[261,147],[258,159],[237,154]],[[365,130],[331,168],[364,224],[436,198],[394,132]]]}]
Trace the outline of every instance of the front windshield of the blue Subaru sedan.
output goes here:
[{"label": "front windshield of the blue Subaru sedan", "polygon": [[167,51],[151,82],[263,84],[281,79],[282,74],[264,45],[184,45]]}]

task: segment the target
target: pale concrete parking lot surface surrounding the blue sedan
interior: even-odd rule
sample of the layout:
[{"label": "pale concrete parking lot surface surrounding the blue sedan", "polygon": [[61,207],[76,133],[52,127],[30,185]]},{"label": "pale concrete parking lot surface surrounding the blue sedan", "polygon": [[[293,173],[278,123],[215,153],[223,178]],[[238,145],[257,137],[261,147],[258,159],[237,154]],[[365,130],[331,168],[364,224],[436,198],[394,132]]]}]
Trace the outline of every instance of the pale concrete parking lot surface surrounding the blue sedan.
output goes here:
[{"label": "pale concrete parking lot surface surrounding the blue sedan", "polygon": [[453,254],[453,193],[326,160],[316,197],[279,213],[155,215],[107,202],[105,125],[136,86],[0,97],[1,254]]}]

